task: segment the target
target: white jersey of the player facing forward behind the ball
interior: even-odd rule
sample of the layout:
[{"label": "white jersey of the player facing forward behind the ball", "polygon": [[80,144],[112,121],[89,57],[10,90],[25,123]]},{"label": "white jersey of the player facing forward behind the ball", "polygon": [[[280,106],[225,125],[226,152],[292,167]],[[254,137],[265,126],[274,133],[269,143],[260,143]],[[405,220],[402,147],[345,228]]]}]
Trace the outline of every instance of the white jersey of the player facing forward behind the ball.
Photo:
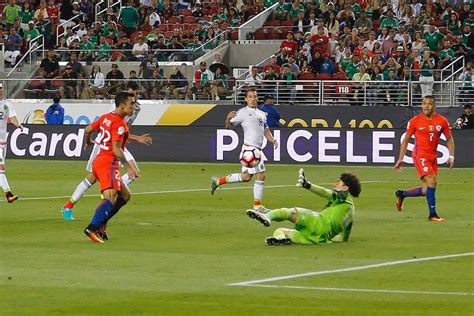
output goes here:
[{"label": "white jersey of the player facing forward behind the ball", "polygon": [[263,132],[267,128],[267,115],[257,108],[248,106],[237,111],[230,122],[232,125],[241,125],[244,130],[244,144],[262,148]]}]

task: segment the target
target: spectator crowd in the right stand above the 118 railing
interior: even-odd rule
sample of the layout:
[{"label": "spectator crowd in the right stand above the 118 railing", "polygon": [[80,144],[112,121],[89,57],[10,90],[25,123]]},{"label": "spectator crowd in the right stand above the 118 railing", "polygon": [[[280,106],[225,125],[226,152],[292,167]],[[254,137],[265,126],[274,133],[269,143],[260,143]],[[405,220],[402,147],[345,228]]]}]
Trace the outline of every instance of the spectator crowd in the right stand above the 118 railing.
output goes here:
[{"label": "spectator crowd in the right stand above the 118 railing", "polygon": [[[273,14],[254,37],[285,39],[263,72],[250,71],[249,85],[259,79],[408,81],[417,82],[415,87],[425,96],[433,93],[435,80],[451,74],[442,69],[459,56],[465,57],[466,69],[472,68],[471,1],[266,1],[268,6],[275,3]],[[470,78],[459,79],[468,80],[465,91],[472,86]],[[357,99],[357,85],[353,87]],[[290,100],[295,93],[290,88]]]}]

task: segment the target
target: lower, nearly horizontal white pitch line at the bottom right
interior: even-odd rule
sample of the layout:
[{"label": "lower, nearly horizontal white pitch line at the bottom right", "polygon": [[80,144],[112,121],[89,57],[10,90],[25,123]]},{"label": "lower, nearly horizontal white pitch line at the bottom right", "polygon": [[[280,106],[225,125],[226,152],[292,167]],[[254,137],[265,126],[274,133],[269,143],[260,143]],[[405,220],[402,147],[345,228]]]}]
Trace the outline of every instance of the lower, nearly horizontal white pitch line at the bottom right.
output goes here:
[{"label": "lower, nearly horizontal white pitch line at the bottom right", "polygon": [[318,286],[297,286],[297,285],[265,285],[265,284],[249,284],[248,287],[264,287],[264,288],[283,288],[296,290],[316,290],[316,291],[340,291],[340,292],[365,292],[365,293],[388,293],[388,294],[425,294],[425,295],[455,295],[470,296],[474,293],[470,292],[433,292],[433,291],[405,291],[405,290],[381,290],[381,289],[351,289],[338,287],[318,287]]}]

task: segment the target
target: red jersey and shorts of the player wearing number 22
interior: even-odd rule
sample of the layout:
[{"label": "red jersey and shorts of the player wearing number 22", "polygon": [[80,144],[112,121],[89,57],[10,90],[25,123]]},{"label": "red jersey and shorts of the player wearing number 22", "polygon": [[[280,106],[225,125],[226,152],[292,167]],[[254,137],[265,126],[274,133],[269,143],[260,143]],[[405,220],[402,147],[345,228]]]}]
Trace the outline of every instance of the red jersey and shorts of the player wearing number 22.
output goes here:
[{"label": "red jersey and shorts of the player wearing number 22", "polygon": [[120,191],[122,178],[112,144],[118,141],[122,143],[122,149],[125,148],[129,132],[128,125],[123,117],[115,112],[110,112],[102,115],[91,126],[100,134],[100,137],[96,139],[100,150],[92,165],[92,172],[99,180],[101,191],[106,189]]}]

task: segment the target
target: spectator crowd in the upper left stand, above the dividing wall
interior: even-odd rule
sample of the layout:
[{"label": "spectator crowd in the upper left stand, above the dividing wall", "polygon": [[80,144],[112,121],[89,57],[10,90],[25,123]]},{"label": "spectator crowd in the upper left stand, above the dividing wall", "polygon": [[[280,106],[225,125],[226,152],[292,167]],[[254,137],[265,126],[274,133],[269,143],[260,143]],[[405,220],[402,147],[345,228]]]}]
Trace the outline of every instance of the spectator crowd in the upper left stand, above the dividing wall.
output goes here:
[{"label": "spectator crowd in the upper left stand, above the dividing wall", "polygon": [[39,35],[63,61],[71,51],[79,61],[141,61],[158,49],[159,61],[193,60],[193,51],[222,40],[222,30],[263,10],[258,0],[122,0],[122,6],[115,5],[120,0],[7,1],[0,9],[0,45],[12,65]]}]

